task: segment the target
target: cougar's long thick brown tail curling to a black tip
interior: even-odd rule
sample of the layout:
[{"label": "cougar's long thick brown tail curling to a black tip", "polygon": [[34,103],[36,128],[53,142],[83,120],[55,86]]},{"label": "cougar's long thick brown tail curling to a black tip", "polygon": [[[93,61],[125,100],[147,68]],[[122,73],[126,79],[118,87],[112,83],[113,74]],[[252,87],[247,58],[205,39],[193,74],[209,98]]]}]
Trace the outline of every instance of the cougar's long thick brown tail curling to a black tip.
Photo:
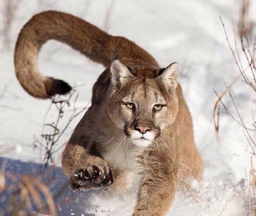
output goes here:
[{"label": "cougar's long thick brown tail curling to a black tip", "polygon": [[111,36],[67,13],[42,12],[33,16],[22,28],[14,56],[19,82],[30,95],[38,98],[49,98],[71,90],[66,82],[39,73],[38,52],[43,43],[50,39],[66,43],[106,67],[115,59],[123,57],[157,64],[148,52],[124,37]]}]

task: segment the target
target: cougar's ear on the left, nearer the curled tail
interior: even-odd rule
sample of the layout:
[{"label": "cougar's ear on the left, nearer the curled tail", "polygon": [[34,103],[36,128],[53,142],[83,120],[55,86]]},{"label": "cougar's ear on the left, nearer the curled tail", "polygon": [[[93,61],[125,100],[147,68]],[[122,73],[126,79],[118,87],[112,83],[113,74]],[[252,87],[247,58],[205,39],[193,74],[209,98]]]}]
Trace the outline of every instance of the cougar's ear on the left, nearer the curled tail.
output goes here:
[{"label": "cougar's ear on the left, nearer the curled tail", "polygon": [[111,71],[111,82],[113,86],[122,86],[127,82],[128,79],[132,78],[133,75],[129,69],[122,64],[119,60],[113,61],[110,66]]}]

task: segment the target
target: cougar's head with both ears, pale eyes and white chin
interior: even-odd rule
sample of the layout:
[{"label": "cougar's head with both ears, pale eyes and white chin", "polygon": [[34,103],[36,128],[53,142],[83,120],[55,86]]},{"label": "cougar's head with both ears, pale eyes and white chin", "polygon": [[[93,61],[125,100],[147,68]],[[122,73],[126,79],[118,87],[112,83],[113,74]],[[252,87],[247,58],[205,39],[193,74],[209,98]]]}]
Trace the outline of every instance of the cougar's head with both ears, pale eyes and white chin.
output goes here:
[{"label": "cougar's head with both ears, pale eyes and white chin", "polygon": [[136,67],[130,69],[119,60],[110,67],[108,114],[137,146],[151,144],[178,112],[178,64],[154,70],[155,76],[138,75]]}]

